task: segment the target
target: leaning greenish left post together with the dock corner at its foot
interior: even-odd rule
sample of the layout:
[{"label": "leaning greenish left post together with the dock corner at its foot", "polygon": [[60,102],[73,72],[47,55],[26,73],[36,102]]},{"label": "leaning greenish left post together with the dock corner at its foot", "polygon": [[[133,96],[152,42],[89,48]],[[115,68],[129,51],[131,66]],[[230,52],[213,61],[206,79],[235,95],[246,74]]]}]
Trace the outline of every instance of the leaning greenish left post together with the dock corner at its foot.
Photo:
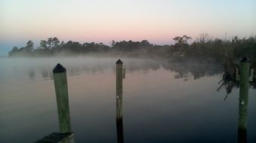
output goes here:
[{"label": "leaning greenish left post together with the dock corner at its foot", "polygon": [[39,139],[35,143],[74,143],[74,133],[71,132],[70,123],[66,68],[58,63],[52,71],[55,81],[55,93],[57,99],[60,132],[52,132],[44,138]]}]

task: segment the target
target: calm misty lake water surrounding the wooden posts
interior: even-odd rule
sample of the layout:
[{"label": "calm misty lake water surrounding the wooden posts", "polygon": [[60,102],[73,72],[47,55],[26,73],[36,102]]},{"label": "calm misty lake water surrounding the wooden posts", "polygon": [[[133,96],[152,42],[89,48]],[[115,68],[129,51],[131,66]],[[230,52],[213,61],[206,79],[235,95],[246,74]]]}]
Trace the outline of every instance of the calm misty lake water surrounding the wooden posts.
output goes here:
[{"label": "calm misty lake water surrounding the wooden posts", "polygon": [[[52,69],[67,68],[75,141],[117,142],[114,58],[0,59],[0,142],[33,142],[58,132]],[[217,91],[218,65],[122,59],[124,142],[237,142],[239,88]],[[256,142],[256,90],[248,142]]]}]

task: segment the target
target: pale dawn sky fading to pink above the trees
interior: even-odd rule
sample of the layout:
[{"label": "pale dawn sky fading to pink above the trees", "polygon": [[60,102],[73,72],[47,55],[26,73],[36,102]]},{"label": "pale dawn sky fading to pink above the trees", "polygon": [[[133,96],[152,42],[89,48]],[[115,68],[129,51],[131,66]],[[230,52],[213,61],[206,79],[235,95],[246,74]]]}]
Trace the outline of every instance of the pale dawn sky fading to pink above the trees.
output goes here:
[{"label": "pale dawn sky fading to pink above the trees", "polygon": [[255,0],[0,0],[0,56],[32,40],[172,44],[256,34]]}]

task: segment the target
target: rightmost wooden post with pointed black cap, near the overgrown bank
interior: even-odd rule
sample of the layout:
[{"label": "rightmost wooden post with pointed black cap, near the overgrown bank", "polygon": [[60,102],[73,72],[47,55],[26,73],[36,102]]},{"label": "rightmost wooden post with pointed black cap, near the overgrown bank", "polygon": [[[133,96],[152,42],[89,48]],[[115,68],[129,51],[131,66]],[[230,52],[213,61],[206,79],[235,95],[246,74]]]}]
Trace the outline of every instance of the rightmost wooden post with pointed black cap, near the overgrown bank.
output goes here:
[{"label": "rightmost wooden post with pointed black cap, near the overgrown bank", "polygon": [[248,108],[248,86],[249,86],[249,60],[244,57],[240,61],[239,72],[239,126],[238,141],[247,142],[247,108]]}]

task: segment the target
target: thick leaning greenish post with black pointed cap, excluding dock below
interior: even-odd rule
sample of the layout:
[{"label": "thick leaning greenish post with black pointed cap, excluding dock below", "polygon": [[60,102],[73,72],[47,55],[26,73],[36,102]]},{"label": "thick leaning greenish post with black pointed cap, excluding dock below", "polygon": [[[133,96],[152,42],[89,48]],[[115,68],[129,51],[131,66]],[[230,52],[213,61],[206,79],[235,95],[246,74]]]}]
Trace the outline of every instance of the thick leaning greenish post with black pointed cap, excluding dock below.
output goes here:
[{"label": "thick leaning greenish post with black pointed cap, excluding dock below", "polygon": [[60,132],[71,132],[66,68],[58,63],[58,65],[56,65],[53,69],[53,78],[55,81],[55,93],[57,99]]}]

